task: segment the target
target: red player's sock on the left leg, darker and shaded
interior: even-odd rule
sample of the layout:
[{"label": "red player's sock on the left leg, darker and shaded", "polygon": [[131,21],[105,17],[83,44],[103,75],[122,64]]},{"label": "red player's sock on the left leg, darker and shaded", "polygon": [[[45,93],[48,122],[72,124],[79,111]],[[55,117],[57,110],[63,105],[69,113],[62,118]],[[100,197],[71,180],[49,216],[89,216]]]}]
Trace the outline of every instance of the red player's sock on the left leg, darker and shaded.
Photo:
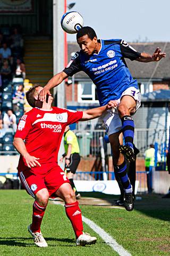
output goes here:
[{"label": "red player's sock on the left leg, darker and shaded", "polygon": [[40,206],[37,201],[33,203],[33,214],[32,214],[32,224],[31,231],[33,233],[40,232],[41,222],[46,210],[46,207]]}]

